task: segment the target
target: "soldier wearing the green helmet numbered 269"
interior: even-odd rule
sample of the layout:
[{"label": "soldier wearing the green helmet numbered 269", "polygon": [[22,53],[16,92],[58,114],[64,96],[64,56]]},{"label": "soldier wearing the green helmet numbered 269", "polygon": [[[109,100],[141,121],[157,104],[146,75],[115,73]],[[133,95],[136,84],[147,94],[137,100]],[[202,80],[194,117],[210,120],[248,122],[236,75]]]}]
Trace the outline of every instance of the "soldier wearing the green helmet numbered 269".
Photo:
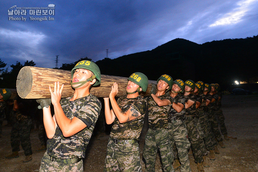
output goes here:
[{"label": "soldier wearing the green helmet numbered 269", "polygon": [[148,102],[148,122],[149,129],[145,136],[145,145],[143,148],[143,158],[146,162],[146,172],[155,172],[155,160],[157,150],[159,149],[164,172],[175,171],[172,162],[174,159],[173,152],[168,134],[168,111],[169,106],[163,106],[161,100],[173,103],[173,98],[165,93],[173,85],[173,79],[169,75],[162,75],[157,80],[156,86],[152,85],[150,96],[146,98]]}]

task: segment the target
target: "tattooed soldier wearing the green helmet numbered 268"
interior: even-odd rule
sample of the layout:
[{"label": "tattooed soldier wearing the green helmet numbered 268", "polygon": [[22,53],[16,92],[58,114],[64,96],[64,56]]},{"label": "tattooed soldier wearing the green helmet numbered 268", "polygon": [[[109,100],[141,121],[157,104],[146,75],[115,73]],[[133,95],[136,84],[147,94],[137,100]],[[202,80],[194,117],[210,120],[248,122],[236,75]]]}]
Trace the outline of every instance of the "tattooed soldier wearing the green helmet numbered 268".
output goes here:
[{"label": "tattooed soldier wearing the green helmet numbered 268", "polygon": [[118,84],[114,83],[109,98],[104,98],[106,123],[113,123],[107,144],[104,172],[142,171],[138,140],[143,127],[147,101],[139,96],[139,92],[146,92],[147,87],[148,78],[140,72],[135,72],[128,78],[126,97],[120,97],[116,101]]}]

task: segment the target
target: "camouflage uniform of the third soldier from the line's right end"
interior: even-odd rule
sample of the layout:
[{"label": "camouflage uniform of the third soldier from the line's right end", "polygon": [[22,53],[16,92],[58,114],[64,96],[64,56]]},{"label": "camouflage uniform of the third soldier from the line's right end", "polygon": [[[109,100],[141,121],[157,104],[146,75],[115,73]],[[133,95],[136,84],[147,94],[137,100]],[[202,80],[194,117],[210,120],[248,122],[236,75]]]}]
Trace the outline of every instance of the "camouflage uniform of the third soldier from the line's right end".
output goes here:
[{"label": "camouflage uniform of the third soldier from the line's right end", "polygon": [[202,97],[203,101],[202,104],[198,109],[196,109],[196,112],[198,114],[198,121],[200,123],[201,129],[204,133],[204,143],[207,148],[207,150],[214,150],[214,146],[217,145],[217,142],[215,141],[214,134],[212,132],[212,127],[210,125],[210,122],[208,120],[208,117],[204,111],[206,108],[206,95],[203,93],[199,94],[199,96]]}]

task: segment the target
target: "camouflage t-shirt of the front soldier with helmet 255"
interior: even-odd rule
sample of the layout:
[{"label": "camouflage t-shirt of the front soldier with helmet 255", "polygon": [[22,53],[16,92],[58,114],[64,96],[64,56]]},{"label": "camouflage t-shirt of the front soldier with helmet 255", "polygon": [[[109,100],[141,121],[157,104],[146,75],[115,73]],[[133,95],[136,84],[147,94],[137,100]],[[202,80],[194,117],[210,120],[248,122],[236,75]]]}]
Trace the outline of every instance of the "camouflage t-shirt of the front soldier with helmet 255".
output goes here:
[{"label": "camouflage t-shirt of the front soldier with helmet 255", "polygon": [[60,101],[64,114],[69,119],[77,117],[87,127],[71,137],[64,137],[57,126],[54,137],[47,141],[48,154],[53,158],[84,158],[86,147],[99,117],[101,102],[96,96],[89,94],[75,101],[69,101],[70,99],[71,97],[68,97]]}]

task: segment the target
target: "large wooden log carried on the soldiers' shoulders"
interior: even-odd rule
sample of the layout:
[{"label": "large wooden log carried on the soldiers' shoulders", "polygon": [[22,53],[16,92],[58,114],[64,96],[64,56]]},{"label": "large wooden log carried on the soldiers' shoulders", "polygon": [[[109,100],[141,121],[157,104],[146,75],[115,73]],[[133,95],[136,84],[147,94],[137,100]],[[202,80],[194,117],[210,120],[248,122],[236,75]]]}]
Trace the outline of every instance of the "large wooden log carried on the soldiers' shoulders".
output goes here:
[{"label": "large wooden log carried on the soldiers' shoulders", "polygon": [[[65,98],[74,93],[71,80],[71,71],[25,66],[19,71],[16,88],[21,98],[50,98],[48,86],[53,90],[54,82],[59,81],[64,84],[62,98]],[[118,83],[117,96],[126,96],[127,78],[119,76],[101,75],[101,84],[92,87],[90,92],[97,97],[108,97],[114,82]],[[147,91],[140,95],[149,96],[152,83],[157,85],[156,81],[149,80]]]}]

